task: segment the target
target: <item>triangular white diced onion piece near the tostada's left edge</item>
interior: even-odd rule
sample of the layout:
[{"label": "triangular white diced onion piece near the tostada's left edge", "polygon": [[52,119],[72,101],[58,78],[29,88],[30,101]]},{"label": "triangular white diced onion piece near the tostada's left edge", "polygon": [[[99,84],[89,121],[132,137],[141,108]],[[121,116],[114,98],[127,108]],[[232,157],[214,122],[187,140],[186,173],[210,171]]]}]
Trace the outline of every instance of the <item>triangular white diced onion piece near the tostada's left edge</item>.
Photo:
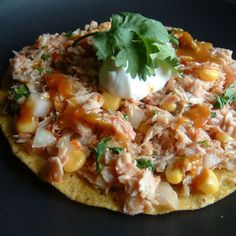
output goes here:
[{"label": "triangular white diced onion piece near the tostada's left edge", "polygon": [[48,130],[38,127],[35,133],[33,148],[47,147],[56,142],[56,138]]}]

